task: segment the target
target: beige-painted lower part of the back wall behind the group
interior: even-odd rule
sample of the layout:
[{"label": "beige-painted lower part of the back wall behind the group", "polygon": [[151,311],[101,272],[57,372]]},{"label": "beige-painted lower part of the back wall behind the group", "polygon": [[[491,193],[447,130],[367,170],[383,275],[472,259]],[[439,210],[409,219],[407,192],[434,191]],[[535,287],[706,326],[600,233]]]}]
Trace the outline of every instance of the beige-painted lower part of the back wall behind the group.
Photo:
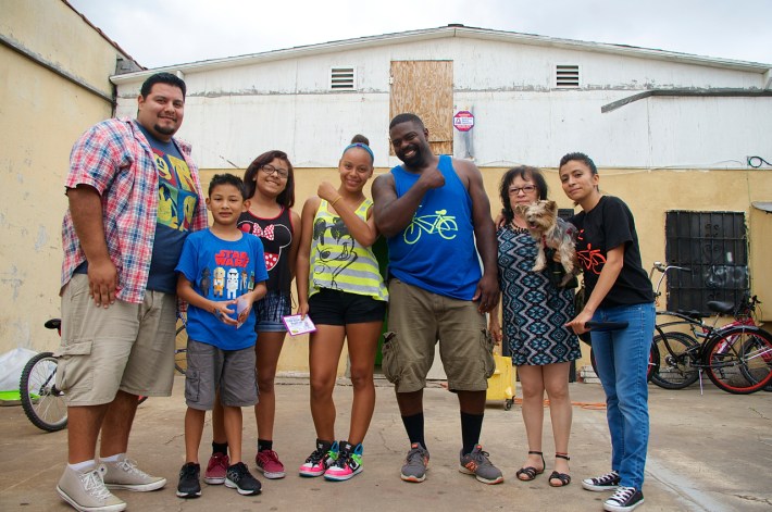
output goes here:
[{"label": "beige-painted lower part of the back wall behind the group", "polygon": [[[257,157],[257,153],[256,153]],[[490,199],[491,215],[501,209],[498,187],[507,168],[482,170],[485,189]],[[556,168],[546,168],[545,177],[550,189],[550,199],[560,208],[572,208],[565,197]],[[219,172],[229,172],[244,176],[244,170],[206,170],[202,171],[204,190],[211,176]],[[377,168],[375,174],[388,172]],[[754,209],[752,201],[772,198],[772,175],[769,171],[707,171],[707,170],[600,170],[600,188],[605,193],[618,196],[624,200],[635,215],[636,228],[640,241],[644,269],[648,272],[655,261],[664,261],[664,217],[669,210],[694,211],[733,211],[744,212],[748,224],[750,245],[751,291],[762,302],[772,301],[772,276],[769,272],[769,257],[772,250],[772,214]],[[300,214],[307,198],[316,193],[316,187],[323,180],[338,185],[337,170],[299,168],[296,170],[296,205]],[[372,184],[372,179],[370,182]],[[365,193],[370,193],[370,184]],[[664,289],[664,288],[663,288]],[[770,302],[772,304],[772,302]],[[664,308],[664,303],[660,309]],[[769,308],[772,311],[772,305]],[[762,315],[760,316],[763,319]],[[584,357],[577,367],[589,365],[588,347],[582,344]],[[344,348],[338,374],[346,370],[347,351]],[[289,337],[284,345],[278,371],[284,374],[308,373],[308,337]]]}]

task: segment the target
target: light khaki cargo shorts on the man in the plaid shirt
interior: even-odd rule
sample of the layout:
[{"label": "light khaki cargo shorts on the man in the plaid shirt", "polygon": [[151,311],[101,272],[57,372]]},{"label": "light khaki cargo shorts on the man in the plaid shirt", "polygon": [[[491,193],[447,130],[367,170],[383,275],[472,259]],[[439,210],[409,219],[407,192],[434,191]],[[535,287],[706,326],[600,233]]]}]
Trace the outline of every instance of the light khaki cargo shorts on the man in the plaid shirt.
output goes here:
[{"label": "light khaki cargo shorts on the man in the plaid shirt", "polygon": [[119,389],[169,397],[174,383],[176,297],[147,290],[140,304],[97,308],[88,276],[73,275],[62,294],[57,387],[67,405],[110,403]]}]

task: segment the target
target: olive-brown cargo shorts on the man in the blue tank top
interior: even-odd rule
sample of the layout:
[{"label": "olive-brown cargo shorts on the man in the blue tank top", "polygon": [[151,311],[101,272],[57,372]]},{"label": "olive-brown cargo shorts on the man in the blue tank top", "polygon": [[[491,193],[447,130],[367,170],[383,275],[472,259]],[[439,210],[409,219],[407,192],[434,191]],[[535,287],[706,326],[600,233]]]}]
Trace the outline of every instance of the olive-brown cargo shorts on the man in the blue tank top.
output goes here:
[{"label": "olive-brown cargo shorts on the man in the blue tank top", "polygon": [[494,342],[485,315],[471,300],[444,297],[393,278],[382,369],[397,392],[426,387],[426,374],[439,357],[453,391],[483,391],[496,370]]}]

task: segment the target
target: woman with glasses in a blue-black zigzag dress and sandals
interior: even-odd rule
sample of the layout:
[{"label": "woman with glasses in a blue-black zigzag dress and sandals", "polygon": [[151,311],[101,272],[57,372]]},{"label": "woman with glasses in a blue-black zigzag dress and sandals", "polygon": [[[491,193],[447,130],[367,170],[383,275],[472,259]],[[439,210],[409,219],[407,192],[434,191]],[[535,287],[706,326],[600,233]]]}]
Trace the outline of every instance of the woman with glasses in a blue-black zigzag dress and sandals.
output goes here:
[{"label": "woman with glasses in a blue-black zigzag dress and sandals", "polygon": [[562,487],[571,483],[569,367],[582,357],[576,336],[564,325],[573,317],[573,292],[556,287],[546,272],[533,271],[540,241],[530,234],[524,212],[539,199],[547,199],[541,171],[510,168],[501,178],[499,195],[502,223],[497,224],[496,236],[503,323],[499,323],[498,311],[493,311],[489,329],[496,341],[503,339],[503,352],[518,366],[523,390],[528,457],[516,476],[530,482],[546,469],[541,451],[546,390],[556,450],[549,485]]}]

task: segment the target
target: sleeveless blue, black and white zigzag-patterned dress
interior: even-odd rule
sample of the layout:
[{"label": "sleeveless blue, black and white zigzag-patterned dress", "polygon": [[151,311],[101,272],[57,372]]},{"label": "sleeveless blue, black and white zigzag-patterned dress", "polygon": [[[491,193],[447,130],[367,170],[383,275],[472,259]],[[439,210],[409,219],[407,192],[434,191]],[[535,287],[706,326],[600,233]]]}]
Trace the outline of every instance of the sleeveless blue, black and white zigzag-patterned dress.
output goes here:
[{"label": "sleeveless blue, black and white zigzag-patterned dress", "polygon": [[543,273],[534,273],[536,240],[525,228],[499,228],[499,286],[503,319],[503,354],[514,365],[544,365],[582,357],[578,339],[563,327],[574,315],[573,290],[558,290]]}]

